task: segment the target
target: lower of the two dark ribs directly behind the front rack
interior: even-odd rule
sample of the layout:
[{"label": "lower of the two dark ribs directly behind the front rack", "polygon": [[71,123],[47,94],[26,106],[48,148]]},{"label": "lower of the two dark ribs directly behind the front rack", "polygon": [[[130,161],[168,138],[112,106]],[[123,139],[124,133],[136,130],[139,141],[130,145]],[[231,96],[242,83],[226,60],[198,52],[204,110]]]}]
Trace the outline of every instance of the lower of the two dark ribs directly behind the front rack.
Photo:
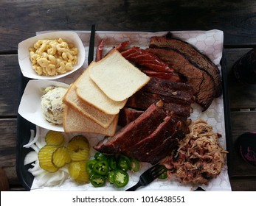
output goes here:
[{"label": "lower of the two dark ribs directly behind the front rack", "polygon": [[164,102],[163,108],[181,119],[187,119],[190,116],[192,107],[190,102],[185,102],[180,99],[175,99],[170,96],[161,96],[156,93],[148,93],[139,90],[131,96],[126,102],[126,107],[132,107],[137,110],[146,110],[151,104],[156,104],[162,100]]}]

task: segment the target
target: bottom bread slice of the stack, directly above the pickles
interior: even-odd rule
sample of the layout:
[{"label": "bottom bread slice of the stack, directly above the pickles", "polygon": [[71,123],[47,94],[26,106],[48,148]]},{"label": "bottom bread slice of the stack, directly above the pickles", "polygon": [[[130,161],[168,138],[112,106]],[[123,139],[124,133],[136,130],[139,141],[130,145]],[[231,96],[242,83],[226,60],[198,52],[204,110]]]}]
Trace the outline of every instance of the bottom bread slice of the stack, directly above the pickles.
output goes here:
[{"label": "bottom bread slice of the stack, directly above the pickles", "polygon": [[95,134],[113,136],[117,130],[117,121],[118,116],[114,118],[114,121],[111,122],[108,129],[105,129],[100,127],[99,124],[96,124],[95,121],[92,121],[91,118],[81,116],[81,114],[72,107],[66,105],[64,107],[63,128],[65,132],[91,132]]}]

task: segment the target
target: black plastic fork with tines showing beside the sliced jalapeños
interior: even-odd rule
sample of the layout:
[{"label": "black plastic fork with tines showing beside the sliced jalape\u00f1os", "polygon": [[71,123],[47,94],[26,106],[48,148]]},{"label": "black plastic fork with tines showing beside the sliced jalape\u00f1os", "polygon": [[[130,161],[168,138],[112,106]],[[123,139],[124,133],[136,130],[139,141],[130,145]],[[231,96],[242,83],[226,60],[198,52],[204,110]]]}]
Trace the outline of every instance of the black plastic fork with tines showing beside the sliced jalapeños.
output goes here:
[{"label": "black plastic fork with tines showing beside the sliced jalape\u00f1os", "polygon": [[133,187],[128,188],[126,191],[136,191],[137,188],[149,185],[151,182],[153,182],[153,180],[156,180],[156,178],[163,174],[165,171],[167,171],[167,168],[160,165],[160,163],[157,163],[151,168],[148,168],[147,171],[143,172],[139,177],[139,182],[137,182]]}]

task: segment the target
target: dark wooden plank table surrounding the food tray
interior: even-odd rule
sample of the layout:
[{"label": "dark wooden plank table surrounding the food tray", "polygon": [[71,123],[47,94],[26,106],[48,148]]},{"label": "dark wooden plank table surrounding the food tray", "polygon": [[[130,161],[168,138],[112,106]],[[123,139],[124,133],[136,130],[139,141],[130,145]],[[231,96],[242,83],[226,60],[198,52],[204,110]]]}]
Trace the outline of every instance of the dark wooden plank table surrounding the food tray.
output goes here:
[{"label": "dark wooden plank table surrounding the food tray", "polygon": [[230,109],[229,177],[232,191],[256,191],[256,167],[235,152],[235,140],[256,129],[256,85],[242,85],[230,73],[233,63],[255,46],[256,1],[0,1],[0,167],[11,191],[24,188],[15,171],[19,104],[17,47],[42,30],[224,31]]}]

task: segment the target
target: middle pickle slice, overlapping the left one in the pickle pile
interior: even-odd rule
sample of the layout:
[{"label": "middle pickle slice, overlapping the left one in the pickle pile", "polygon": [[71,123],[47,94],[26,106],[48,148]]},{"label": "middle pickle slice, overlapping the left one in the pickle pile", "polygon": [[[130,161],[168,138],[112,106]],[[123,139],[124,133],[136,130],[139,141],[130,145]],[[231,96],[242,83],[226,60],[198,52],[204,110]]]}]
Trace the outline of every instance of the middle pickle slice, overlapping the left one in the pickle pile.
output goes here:
[{"label": "middle pickle slice, overlapping the left one in the pickle pile", "polygon": [[52,153],[52,163],[55,167],[61,168],[65,166],[66,163],[70,162],[71,158],[66,146],[60,146],[55,150],[55,152]]}]

